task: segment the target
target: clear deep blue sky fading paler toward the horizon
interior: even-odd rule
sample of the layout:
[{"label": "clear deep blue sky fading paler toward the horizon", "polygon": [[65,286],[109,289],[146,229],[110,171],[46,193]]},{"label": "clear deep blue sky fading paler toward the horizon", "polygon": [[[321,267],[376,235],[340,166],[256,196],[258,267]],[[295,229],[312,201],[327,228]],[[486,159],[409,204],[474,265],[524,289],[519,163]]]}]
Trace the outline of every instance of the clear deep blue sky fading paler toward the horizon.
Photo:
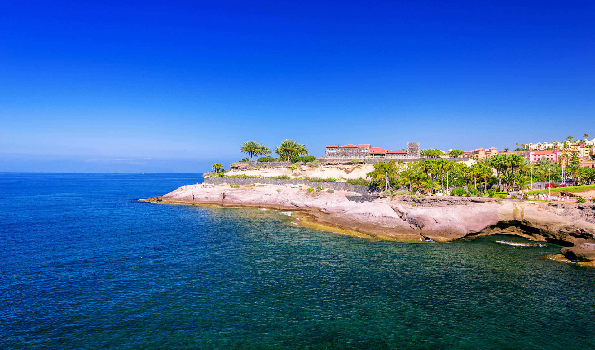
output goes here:
[{"label": "clear deep blue sky fading paler toward the horizon", "polygon": [[0,171],[595,137],[595,2],[437,3],[4,2]]}]

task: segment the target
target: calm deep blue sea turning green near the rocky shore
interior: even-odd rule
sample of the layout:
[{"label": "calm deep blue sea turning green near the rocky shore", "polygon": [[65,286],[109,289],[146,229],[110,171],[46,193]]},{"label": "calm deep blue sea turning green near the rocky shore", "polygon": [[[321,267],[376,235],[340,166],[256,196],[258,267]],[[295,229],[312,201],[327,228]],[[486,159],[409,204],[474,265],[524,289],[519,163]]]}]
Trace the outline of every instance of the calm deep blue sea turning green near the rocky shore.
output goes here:
[{"label": "calm deep blue sea turning green near the rocky shore", "polygon": [[143,203],[197,174],[0,174],[0,349],[594,349],[595,269],[274,210]]}]

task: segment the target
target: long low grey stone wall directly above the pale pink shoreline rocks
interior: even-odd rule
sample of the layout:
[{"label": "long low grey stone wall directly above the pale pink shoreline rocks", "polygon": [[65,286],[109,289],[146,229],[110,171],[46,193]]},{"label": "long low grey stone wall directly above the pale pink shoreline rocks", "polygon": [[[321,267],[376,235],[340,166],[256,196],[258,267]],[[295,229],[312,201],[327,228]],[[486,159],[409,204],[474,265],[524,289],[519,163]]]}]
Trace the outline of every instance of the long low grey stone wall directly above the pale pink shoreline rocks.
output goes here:
[{"label": "long low grey stone wall directly above the pale pink shoreline rocks", "polygon": [[248,184],[267,184],[267,185],[297,185],[305,184],[306,186],[318,187],[322,186],[325,189],[332,188],[336,191],[350,191],[360,194],[366,194],[369,191],[377,192],[378,188],[369,187],[367,185],[352,185],[347,182],[326,182],[326,181],[308,181],[305,179],[246,179],[246,178],[205,178],[205,184],[234,184],[234,185],[248,185]]}]

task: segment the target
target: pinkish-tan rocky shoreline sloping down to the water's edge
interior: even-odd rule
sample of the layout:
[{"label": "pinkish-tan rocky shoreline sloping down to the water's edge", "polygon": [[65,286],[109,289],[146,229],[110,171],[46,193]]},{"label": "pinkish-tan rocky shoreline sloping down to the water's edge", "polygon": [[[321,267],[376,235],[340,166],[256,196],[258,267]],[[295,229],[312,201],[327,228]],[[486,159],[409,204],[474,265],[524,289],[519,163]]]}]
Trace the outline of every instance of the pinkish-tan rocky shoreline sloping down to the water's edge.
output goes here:
[{"label": "pinkish-tan rocky shoreline sloping down to the water's edge", "polygon": [[595,266],[595,204],[406,195],[356,202],[347,194],[299,185],[186,185],[141,201],[288,210],[296,225],[403,242],[513,235],[564,246],[546,258]]}]

